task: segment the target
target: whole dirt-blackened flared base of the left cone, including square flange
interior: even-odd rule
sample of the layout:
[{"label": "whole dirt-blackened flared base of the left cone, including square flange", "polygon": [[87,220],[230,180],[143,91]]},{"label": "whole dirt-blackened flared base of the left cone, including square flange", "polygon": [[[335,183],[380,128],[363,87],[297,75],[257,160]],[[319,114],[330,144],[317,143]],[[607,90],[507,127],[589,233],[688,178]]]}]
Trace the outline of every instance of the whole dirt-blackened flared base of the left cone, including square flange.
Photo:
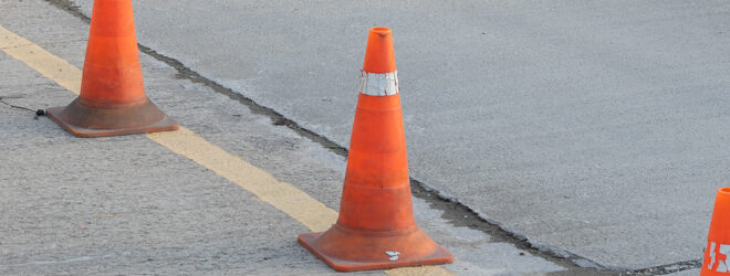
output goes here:
[{"label": "whole dirt-blackened flared base of the left cone, including square flange", "polygon": [[150,100],[127,108],[95,108],[76,98],[65,107],[51,107],[45,114],[77,137],[109,137],[176,130],[175,119]]}]

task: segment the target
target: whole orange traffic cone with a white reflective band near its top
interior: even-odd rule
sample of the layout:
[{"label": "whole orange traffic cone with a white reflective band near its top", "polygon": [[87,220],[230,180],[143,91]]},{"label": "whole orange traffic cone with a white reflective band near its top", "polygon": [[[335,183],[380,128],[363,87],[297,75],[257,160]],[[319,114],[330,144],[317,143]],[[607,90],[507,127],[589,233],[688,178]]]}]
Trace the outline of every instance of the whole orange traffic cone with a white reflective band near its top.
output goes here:
[{"label": "whole orange traffic cone with a white reflective band near its top", "polygon": [[393,38],[389,29],[373,28],[340,217],[299,242],[341,272],[451,263],[453,255],[416,225],[409,182]]}]

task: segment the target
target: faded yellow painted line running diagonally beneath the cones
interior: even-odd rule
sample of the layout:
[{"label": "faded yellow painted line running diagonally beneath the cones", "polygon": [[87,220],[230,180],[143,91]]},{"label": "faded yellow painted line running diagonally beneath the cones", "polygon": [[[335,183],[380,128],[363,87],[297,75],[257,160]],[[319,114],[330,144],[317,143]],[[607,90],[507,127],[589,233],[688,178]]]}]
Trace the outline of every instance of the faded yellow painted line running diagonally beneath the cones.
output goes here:
[{"label": "faded yellow painted line running diagonally beneath the cones", "polygon": [[[46,78],[79,95],[82,72],[63,59],[49,53],[2,25],[0,25],[0,49],[13,59],[24,62]],[[271,173],[229,153],[190,129],[180,127],[177,131],[147,134],[147,138],[240,185],[259,197],[261,201],[301,222],[311,231],[325,231],[337,220],[337,212],[304,191],[277,180]],[[453,275],[438,266],[406,267],[384,272],[403,276]]]}]

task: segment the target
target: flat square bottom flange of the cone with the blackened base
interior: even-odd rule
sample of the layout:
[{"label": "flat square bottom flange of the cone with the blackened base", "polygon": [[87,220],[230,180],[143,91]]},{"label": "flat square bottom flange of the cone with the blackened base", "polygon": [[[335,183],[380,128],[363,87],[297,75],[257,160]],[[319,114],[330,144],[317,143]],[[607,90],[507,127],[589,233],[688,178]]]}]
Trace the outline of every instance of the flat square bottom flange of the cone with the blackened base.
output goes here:
[{"label": "flat square bottom flange of the cone with the blackened base", "polygon": [[93,138],[93,137],[149,134],[149,132],[158,132],[158,131],[171,131],[171,130],[177,130],[178,127],[180,126],[175,119],[165,115],[160,121],[146,126],[122,127],[115,129],[85,128],[64,121],[60,117],[60,114],[65,108],[66,108],[65,106],[51,107],[45,109],[45,114],[49,116],[49,118],[51,118],[53,121],[59,124],[65,130],[77,137]]}]

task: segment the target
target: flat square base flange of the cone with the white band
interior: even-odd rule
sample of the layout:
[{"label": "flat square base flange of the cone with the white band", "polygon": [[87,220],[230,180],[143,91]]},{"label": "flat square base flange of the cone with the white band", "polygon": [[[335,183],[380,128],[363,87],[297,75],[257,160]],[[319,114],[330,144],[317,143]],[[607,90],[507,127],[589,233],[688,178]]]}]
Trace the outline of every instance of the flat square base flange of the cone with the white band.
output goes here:
[{"label": "flat square base flange of the cone with the white band", "polygon": [[421,265],[441,265],[449,264],[453,261],[453,255],[451,255],[451,253],[446,251],[440,245],[437,246],[434,254],[420,259],[397,259],[386,262],[355,262],[341,259],[333,256],[327,256],[320,248],[317,248],[316,240],[319,240],[322,234],[324,234],[324,232],[301,234],[299,235],[299,243],[337,272],[357,272]]}]

